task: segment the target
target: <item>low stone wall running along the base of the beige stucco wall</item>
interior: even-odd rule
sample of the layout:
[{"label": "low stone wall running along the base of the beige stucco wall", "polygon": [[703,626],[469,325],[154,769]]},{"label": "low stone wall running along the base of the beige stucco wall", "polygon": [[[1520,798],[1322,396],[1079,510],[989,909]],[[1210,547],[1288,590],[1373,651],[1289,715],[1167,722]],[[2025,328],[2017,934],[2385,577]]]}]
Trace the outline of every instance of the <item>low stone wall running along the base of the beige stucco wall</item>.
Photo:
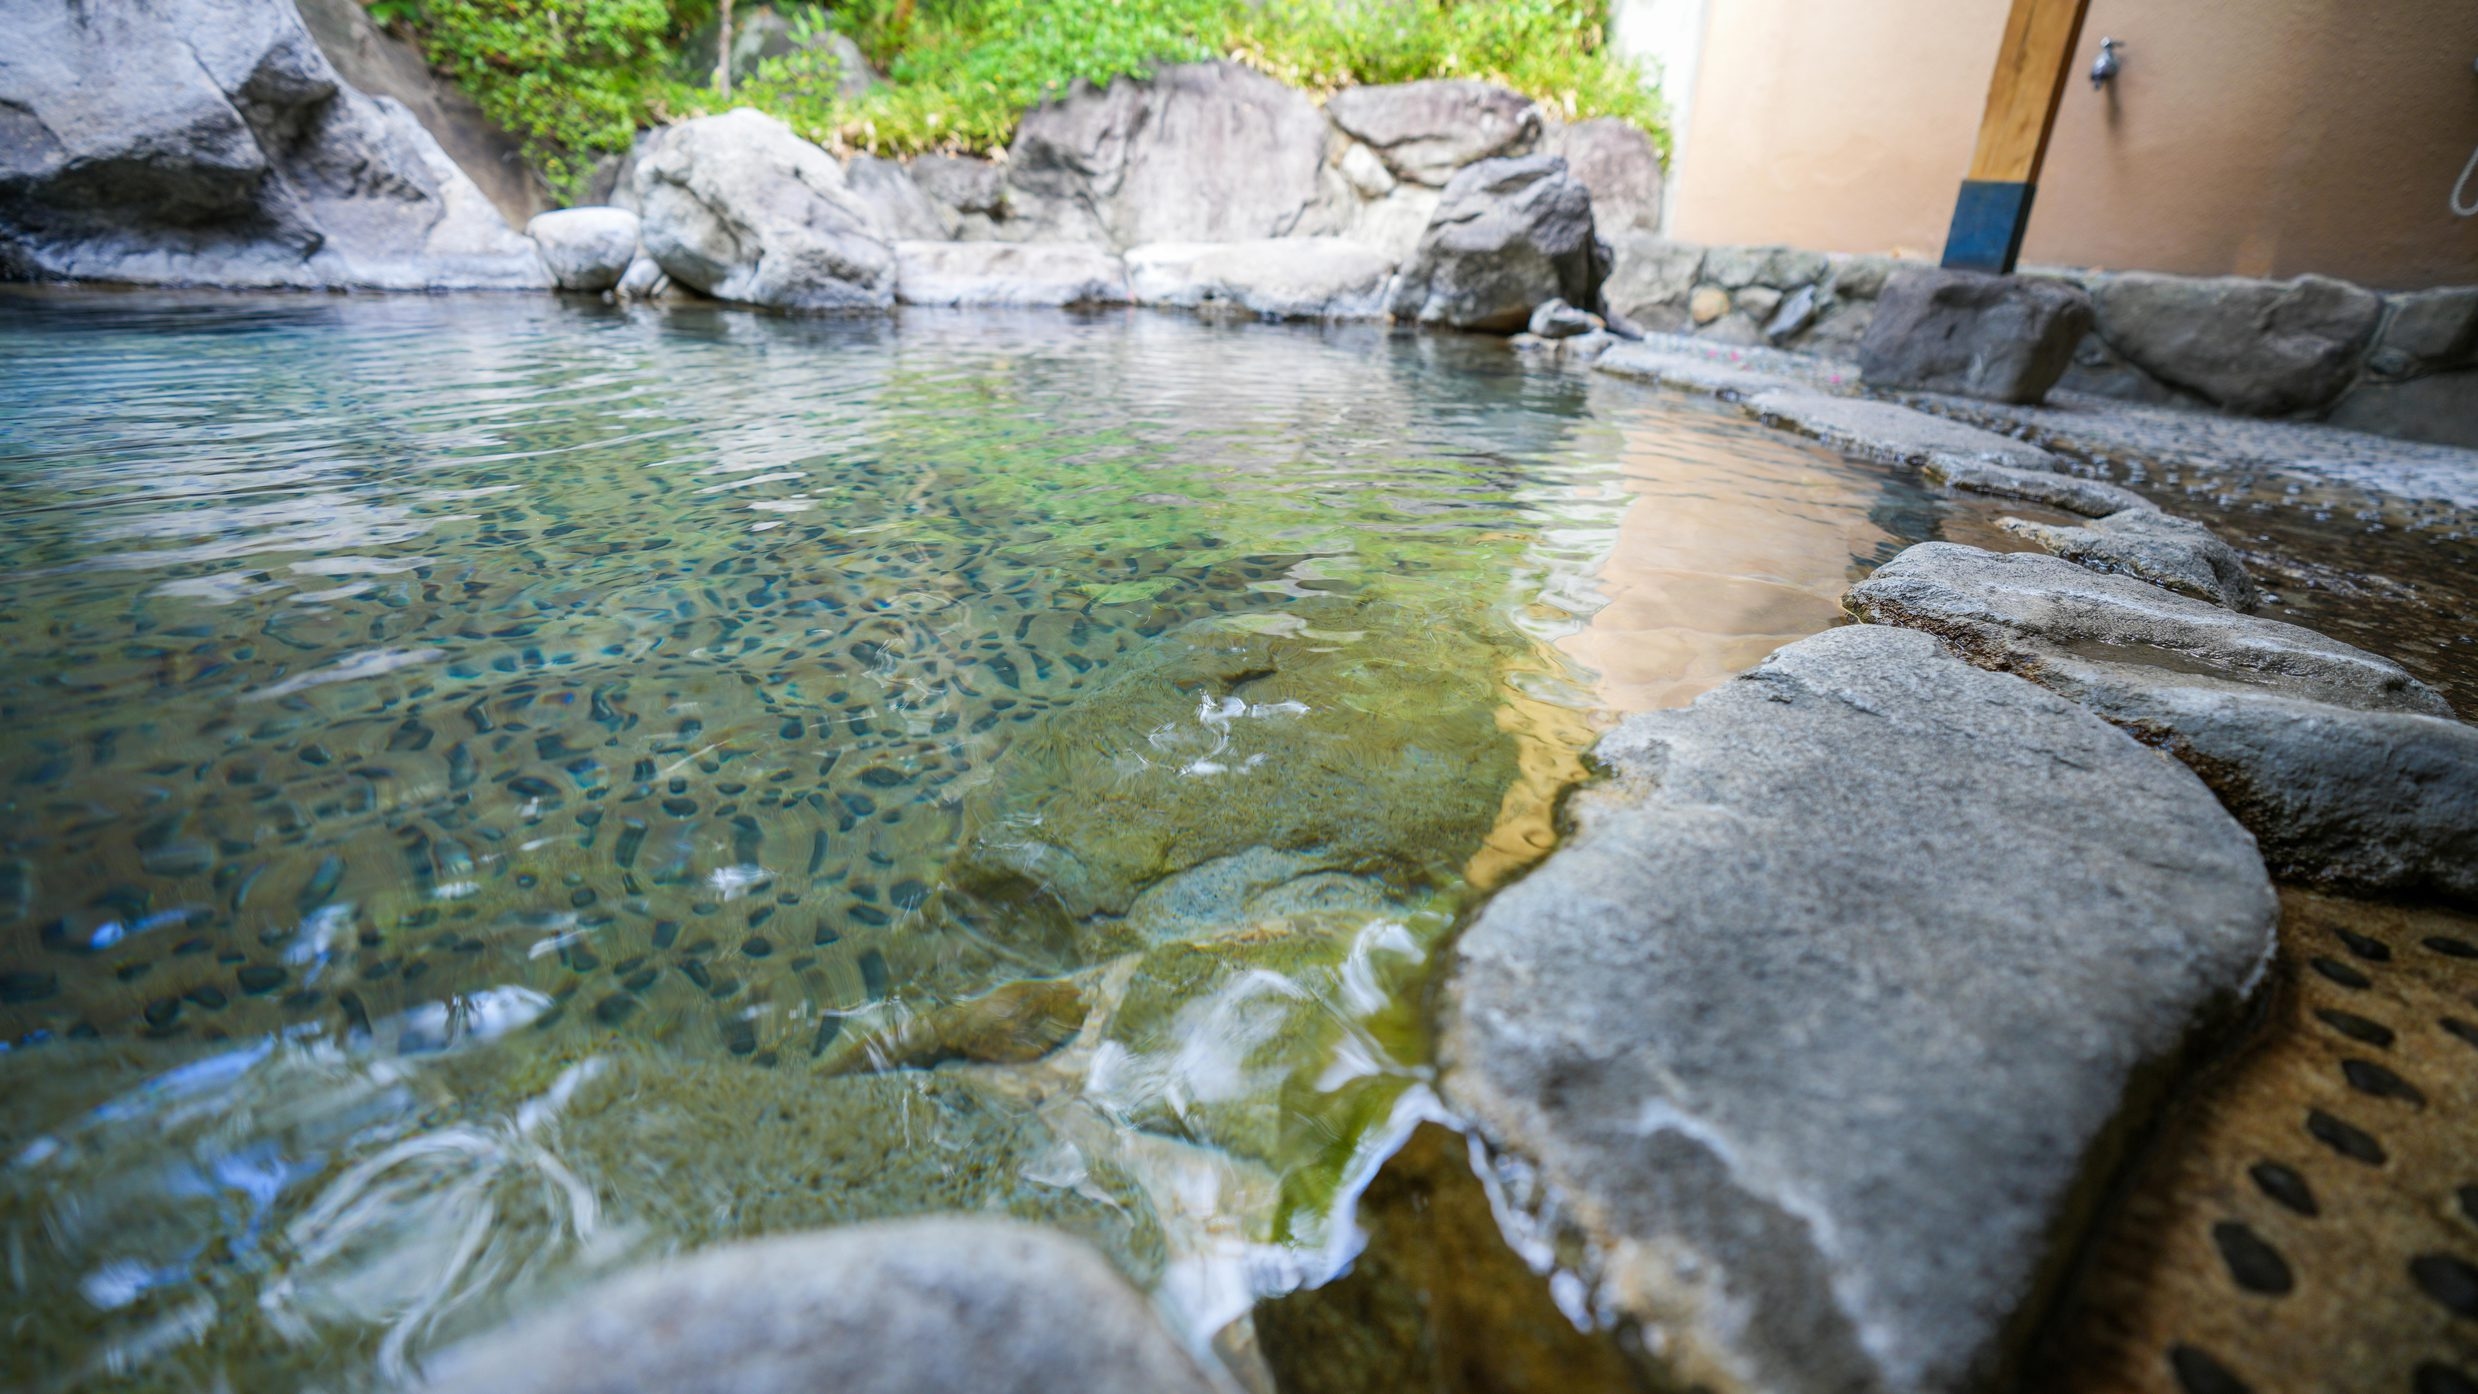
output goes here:
[{"label": "low stone wall running along the base of the beige stucco wall", "polygon": [[[1611,235],[1608,307],[1650,332],[1856,359],[1893,270],[1873,255]],[[2376,295],[2329,277],[2039,270],[2096,324],[2064,391],[2478,446],[2478,285]]]}]

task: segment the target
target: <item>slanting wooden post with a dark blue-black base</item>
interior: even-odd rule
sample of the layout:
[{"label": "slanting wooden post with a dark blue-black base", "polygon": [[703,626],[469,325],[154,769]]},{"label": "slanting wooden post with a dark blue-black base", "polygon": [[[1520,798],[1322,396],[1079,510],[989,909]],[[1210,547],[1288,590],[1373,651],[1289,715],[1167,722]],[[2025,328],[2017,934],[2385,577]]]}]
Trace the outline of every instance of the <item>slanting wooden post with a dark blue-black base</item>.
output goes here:
[{"label": "slanting wooden post with a dark blue-black base", "polygon": [[1987,114],[1970,176],[1953,203],[1945,265],[2010,275],[2029,228],[2029,201],[2039,188],[2039,161],[2057,129],[2057,104],[2074,74],[2082,15],[2089,0],[2012,0],[2005,47],[1987,79]]}]

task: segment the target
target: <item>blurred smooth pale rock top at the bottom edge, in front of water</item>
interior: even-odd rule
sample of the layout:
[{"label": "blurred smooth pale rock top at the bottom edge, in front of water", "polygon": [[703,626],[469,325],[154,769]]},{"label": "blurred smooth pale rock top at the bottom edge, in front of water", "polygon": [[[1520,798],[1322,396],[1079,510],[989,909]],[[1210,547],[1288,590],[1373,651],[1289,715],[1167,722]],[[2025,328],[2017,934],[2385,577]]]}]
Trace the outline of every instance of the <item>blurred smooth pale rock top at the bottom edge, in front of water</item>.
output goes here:
[{"label": "blurred smooth pale rock top at the bottom edge, in front of water", "polygon": [[1204,1394],[1098,1250],[939,1216],[711,1248],[624,1273],[431,1362],[461,1394]]}]

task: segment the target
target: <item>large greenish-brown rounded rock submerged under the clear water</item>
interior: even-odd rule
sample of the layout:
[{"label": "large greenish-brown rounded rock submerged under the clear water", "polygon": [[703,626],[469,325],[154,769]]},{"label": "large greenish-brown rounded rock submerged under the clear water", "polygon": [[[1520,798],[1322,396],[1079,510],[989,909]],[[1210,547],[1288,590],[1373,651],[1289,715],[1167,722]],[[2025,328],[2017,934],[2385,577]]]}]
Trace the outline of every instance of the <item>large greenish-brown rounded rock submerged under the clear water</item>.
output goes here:
[{"label": "large greenish-brown rounded rock submerged under the clear water", "polygon": [[[1318,631],[1375,624],[1336,612]],[[1395,894],[1450,884],[1512,777],[1487,666],[1415,673],[1207,619],[1009,745],[964,805],[947,886],[1009,943],[1088,963],[1142,943],[1127,916],[1147,891],[1239,906],[1336,872]]]}]

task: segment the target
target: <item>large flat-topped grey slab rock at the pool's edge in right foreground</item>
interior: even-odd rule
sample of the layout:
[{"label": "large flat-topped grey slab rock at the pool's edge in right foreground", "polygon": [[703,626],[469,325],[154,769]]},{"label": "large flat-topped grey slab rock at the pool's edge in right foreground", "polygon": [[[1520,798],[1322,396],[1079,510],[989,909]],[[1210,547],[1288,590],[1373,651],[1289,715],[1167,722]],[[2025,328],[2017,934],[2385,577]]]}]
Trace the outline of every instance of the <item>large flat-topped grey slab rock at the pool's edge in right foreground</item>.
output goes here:
[{"label": "large flat-topped grey slab rock at the pool's edge in right foreground", "polygon": [[1802,639],[1611,733],[1462,936],[1445,1094],[1680,1384],[1997,1387],[2275,899],[2171,760],[1923,634]]}]

